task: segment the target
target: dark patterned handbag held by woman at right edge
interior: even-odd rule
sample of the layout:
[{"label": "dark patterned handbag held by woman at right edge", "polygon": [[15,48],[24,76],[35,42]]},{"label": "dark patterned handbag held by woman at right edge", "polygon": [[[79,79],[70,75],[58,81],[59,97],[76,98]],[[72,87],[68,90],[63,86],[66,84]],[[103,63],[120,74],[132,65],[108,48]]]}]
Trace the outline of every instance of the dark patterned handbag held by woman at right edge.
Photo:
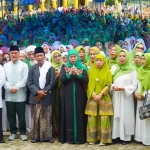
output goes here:
[{"label": "dark patterned handbag held by woman at right edge", "polygon": [[148,92],[145,95],[143,106],[139,108],[139,117],[141,120],[150,118],[150,104],[146,105]]}]

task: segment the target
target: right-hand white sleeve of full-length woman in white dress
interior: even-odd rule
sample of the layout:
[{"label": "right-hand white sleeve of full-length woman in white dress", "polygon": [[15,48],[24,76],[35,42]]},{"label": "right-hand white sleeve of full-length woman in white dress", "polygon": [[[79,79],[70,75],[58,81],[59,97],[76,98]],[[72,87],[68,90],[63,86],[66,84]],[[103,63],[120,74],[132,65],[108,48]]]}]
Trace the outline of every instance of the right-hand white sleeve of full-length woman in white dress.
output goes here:
[{"label": "right-hand white sleeve of full-length woman in white dress", "polygon": [[133,71],[131,73],[131,85],[125,87],[126,96],[129,97],[137,88],[137,72]]}]

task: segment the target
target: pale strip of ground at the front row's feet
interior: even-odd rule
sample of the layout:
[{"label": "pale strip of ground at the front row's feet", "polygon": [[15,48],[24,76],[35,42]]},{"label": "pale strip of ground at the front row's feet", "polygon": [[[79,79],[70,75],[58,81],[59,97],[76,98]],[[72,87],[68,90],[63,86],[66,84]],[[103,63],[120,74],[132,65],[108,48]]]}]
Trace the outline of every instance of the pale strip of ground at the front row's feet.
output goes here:
[{"label": "pale strip of ground at the front row's feet", "polygon": [[89,145],[74,145],[74,144],[61,144],[57,140],[54,144],[51,143],[34,143],[30,140],[23,142],[16,139],[13,142],[8,141],[9,133],[4,133],[6,143],[0,144],[0,150],[150,150],[150,146],[137,145],[132,142],[129,145],[123,146],[121,144],[100,146],[99,144]]}]

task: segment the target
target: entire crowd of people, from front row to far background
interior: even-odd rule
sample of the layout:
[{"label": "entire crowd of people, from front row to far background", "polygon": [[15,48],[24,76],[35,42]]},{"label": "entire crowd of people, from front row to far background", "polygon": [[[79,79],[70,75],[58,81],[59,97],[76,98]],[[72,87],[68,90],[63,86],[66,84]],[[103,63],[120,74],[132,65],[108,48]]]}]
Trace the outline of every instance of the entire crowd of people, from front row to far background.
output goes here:
[{"label": "entire crowd of people, from front row to far background", "polygon": [[150,100],[149,17],[56,9],[8,15],[0,34],[1,143],[10,129],[10,141],[27,131],[32,143],[125,145],[134,135],[150,145],[138,112]]}]

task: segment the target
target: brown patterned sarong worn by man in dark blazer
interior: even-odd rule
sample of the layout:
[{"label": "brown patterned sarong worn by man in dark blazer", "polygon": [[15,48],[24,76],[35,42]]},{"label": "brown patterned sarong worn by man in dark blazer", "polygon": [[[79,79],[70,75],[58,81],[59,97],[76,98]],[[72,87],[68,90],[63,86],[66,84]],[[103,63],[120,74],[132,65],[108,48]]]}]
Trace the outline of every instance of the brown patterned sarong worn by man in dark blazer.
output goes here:
[{"label": "brown patterned sarong worn by man in dark blazer", "polygon": [[34,104],[31,107],[31,140],[51,140],[52,105]]}]

